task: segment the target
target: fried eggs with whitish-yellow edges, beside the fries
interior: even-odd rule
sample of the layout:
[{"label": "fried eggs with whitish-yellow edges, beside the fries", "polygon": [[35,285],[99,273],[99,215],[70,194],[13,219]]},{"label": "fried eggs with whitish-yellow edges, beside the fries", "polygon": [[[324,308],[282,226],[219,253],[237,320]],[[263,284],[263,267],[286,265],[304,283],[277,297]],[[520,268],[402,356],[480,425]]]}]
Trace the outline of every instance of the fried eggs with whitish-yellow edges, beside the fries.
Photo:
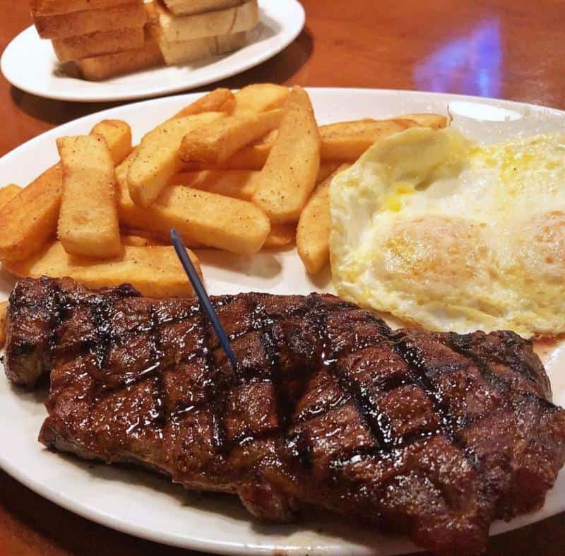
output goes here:
[{"label": "fried eggs with whitish-yellow edges, beside the fries", "polygon": [[330,191],[341,297],[439,331],[565,332],[565,135],[408,129]]}]

